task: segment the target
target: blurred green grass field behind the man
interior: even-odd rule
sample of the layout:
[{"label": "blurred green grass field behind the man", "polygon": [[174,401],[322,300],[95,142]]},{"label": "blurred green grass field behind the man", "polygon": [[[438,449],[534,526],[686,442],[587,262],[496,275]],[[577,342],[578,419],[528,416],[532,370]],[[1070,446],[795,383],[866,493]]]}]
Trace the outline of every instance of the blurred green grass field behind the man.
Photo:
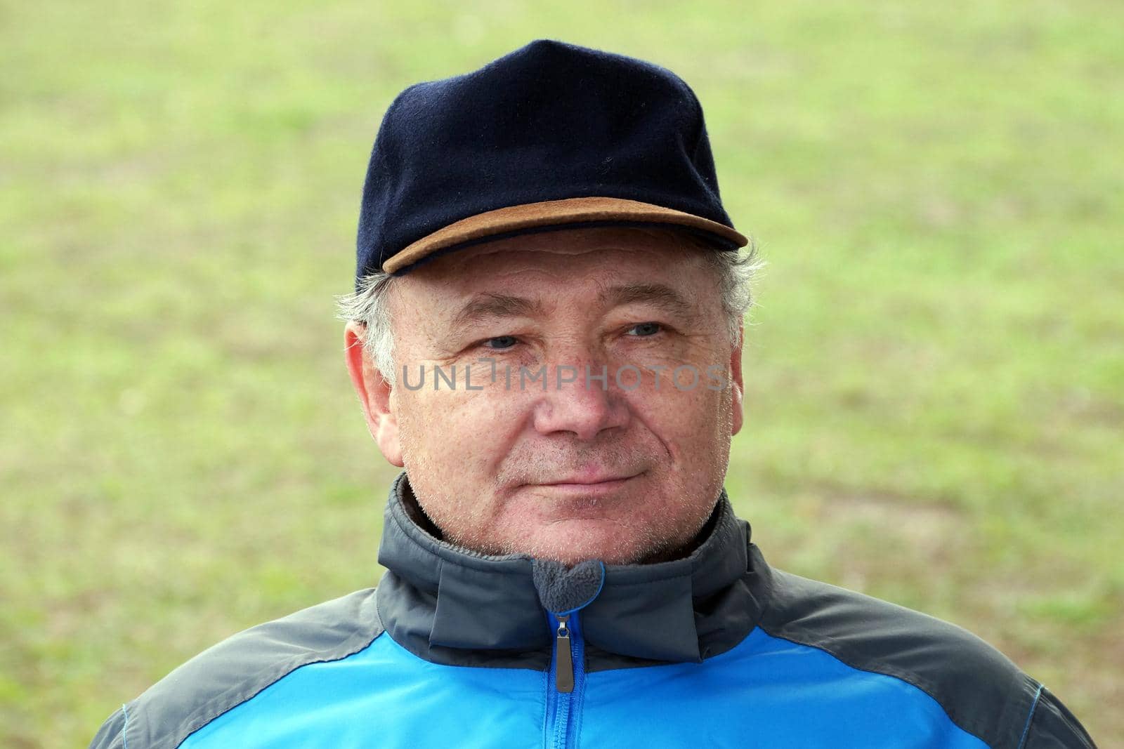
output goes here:
[{"label": "blurred green grass field behind the man", "polygon": [[1124,7],[0,2],[0,746],[377,582],[333,295],[406,85],[537,37],[697,91],[769,261],[727,488],[1124,746]]}]

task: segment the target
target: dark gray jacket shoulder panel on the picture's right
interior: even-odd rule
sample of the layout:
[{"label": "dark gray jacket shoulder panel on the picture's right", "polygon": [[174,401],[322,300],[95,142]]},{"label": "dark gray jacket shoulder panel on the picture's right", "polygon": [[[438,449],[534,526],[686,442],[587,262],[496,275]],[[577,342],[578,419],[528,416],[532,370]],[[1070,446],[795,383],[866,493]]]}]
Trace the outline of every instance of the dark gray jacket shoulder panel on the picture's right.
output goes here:
[{"label": "dark gray jacket shoulder panel on the picture's right", "polygon": [[770,606],[760,623],[765,632],[825,650],[852,668],[900,678],[989,747],[1022,749],[1040,685],[994,647],[910,609],[772,572]]}]

